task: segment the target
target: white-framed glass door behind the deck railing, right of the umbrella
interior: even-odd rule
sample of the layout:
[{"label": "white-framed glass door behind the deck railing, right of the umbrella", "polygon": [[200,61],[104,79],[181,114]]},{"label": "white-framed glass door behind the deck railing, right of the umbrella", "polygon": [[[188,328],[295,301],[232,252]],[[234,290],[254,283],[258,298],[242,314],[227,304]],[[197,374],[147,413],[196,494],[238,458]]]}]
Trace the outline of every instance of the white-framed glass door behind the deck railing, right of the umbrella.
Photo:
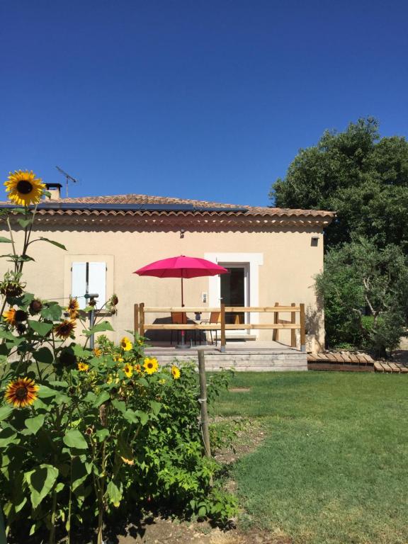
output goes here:
[{"label": "white-framed glass door behind the deck railing, right of the umbrella", "polygon": [[[218,263],[227,268],[227,274],[220,274],[220,301],[225,306],[249,306],[249,264],[247,263]],[[225,324],[244,324],[250,322],[248,312],[225,312]],[[249,334],[249,330],[226,331],[227,336]]]}]

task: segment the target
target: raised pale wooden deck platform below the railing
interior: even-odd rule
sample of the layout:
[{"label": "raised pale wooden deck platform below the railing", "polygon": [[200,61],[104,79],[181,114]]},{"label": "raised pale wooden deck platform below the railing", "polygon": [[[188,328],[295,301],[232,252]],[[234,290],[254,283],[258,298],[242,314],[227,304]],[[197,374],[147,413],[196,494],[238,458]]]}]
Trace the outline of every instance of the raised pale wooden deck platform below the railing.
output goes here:
[{"label": "raised pale wooden deck platform below the railing", "polygon": [[193,346],[178,349],[168,343],[146,348],[147,356],[156,357],[160,364],[178,361],[198,363],[198,350],[205,351],[206,370],[233,368],[237,371],[271,372],[287,370],[307,370],[307,354],[280,344],[276,341],[234,341],[227,340],[225,352],[218,346]]}]

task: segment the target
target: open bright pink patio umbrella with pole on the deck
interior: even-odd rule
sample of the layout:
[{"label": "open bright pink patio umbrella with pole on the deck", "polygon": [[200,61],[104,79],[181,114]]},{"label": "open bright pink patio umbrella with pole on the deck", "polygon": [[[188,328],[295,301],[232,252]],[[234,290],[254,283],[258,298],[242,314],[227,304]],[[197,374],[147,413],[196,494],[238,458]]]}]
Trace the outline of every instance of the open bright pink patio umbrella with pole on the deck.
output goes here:
[{"label": "open bright pink patio umbrella with pole on the deck", "polygon": [[[155,276],[156,278],[181,278],[181,306],[184,306],[183,280],[188,278],[199,278],[200,276],[217,276],[217,274],[228,273],[227,268],[223,268],[216,263],[199,259],[198,257],[169,257],[161,259],[154,263],[147,264],[134,274],[139,276]],[[184,332],[181,331],[181,344],[184,346]]]}]

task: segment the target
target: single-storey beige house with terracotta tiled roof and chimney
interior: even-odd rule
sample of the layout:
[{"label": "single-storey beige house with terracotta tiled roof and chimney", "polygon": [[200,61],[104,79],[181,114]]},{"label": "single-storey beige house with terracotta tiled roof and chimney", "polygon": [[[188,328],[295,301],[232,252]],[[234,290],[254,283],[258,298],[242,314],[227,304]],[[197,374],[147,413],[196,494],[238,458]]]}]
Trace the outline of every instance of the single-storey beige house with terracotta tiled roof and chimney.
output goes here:
[{"label": "single-storey beige house with terracotta tiled roof and chimney", "polygon": [[[51,198],[38,206],[34,231],[61,242],[67,251],[45,243],[30,246],[35,262],[24,268],[30,292],[62,305],[70,295],[77,296],[81,307],[86,292],[98,293],[98,306],[115,293],[118,313],[108,319],[118,340],[133,327],[135,302],[180,305],[179,280],[133,272],[169,256],[199,256],[230,273],[185,280],[186,305],[218,307],[220,298],[227,305],[253,307],[304,302],[307,349],[324,346],[322,307],[313,285],[322,270],[323,232],[333,212],[136,194],[60,198],[60,188],[58,183],[47,186]],[[7,264],[0,261],[1,272]],[[271,315],[250,314],[246,319],[271,322]],[[272,336],[271,330],[247,332],[258,339]]]}]

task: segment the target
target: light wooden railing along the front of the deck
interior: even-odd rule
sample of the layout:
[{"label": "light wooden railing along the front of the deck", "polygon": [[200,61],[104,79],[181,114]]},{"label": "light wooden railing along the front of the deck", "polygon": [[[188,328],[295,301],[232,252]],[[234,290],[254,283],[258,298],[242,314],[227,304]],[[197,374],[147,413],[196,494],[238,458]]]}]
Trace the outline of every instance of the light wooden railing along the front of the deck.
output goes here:
[{"label": "light wooden railing along the front of the deck", "polygon": [[[275,306],[266,306],[266,307],[236,307],[236,306],[225,306],[221,304],[220,307],[146,307],[143,302],[140,304],[135,304],[134,307],[134,329],[140,336],[145,336],[145,331],[147,330],[179,330],[179,331],[221,331],[221,351],[225,351],[225,331],[237,331],[237,330],[263,330],[271,329],[273,330],[273,340],[278,341],[279,339],[279,330],[289,329],[290,334],[290,345],[296,347],[296,330],[300,331],[300,349],[301,351],[306,351],[306,334],[305,334],[305,305],[295,305],[295,302],[292,302],[290,306],[279,306],[276,302]],[[203,314],[210,312],[220,312],[220,321],[217,323],[186,323],[186,324],[175,324],[175,323],[146,323],[146,314],[154,313],[165,313],[170,314],[171,312],[186,312]],[[225,323],[225,312],[238,312],[238,313],[268,313],[271,312],[274,314],[273,323]],[[280,319],[279,315],[282,313],[290,313],[290,321],[285,319]],[[299,314],[299,322],[296,322],[296,314]]]}]

